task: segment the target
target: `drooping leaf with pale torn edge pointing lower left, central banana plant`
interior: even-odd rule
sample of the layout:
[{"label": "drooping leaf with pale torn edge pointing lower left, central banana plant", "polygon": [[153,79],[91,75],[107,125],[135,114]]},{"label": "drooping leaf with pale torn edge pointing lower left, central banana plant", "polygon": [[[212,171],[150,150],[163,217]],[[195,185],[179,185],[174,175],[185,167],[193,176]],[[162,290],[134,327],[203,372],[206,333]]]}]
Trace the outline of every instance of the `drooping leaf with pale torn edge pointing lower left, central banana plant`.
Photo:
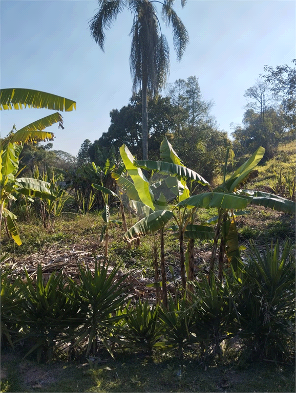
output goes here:
[{"label": "drooping leaf with pale torn edge pointing lower left, central banana plant", "polygon": [[174,214],[169,210],[157,210],[137,222],[124,233],[123,237],[127,241],[132,241],[140,235],[154,233],[163,228],[173,216]]}]

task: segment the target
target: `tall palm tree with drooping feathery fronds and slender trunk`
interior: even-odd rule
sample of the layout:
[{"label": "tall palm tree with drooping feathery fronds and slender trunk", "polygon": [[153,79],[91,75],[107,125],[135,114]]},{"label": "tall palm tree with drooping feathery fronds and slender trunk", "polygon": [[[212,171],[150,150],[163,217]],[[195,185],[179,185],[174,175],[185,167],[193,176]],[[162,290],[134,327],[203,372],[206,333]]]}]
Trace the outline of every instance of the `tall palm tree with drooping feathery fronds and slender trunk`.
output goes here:
[{"label": "tall palm tree with drooping feathery fronds and slender trunk", "polygon": [[[166,37],[161,33],[154,3],[162,4],[161,17],[166,26],[173,28],[174,49],[180,60],[189,37],[185,26],[173,9],[175,0],[98,0],[99,9],[90,21],[90,30],[96,43],[104,50],[104,29],[109,29],[119,12],[128,8],[134,14],[131,29],[132,45],[130,69],[133,77],[133,91],[142,89],[142,143],[143,160],[147,160],[147,89],[153,95],[166,82],[170,71],[170,53]],[[181,0],[184,7],[186,0]]]}]

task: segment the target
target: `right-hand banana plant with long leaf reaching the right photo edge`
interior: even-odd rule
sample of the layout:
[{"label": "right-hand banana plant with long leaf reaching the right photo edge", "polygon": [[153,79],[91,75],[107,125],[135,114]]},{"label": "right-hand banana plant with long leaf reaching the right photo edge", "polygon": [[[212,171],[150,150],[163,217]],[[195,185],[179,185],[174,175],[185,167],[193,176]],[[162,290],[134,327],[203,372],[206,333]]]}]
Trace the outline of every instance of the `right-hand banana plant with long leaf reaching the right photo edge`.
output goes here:
[{"label": "right-hand banana plant with long leaf reaching the right photo edge", "polygon": [[[228,261],[236,269],[237,261],[240,258],[240,246],[236,227],[236,215],[245,214],[245,208],[248,204],[256,204],[269,207],[278,211],[293,214],[295,212],[295,203],[278,195],[268,194],[261,191],[242,190],[240,187],[247,181],[257,176],[254,170],[263,158],[265,149],[259,147],[255,153],[241,165],[232,176],[226,180],[226,164],[224,170],[223,184],[214,189],[212,192],[205,192],[199,195],[193,195],[186,200],[181,201],[178,206],[188,206],[195,208],[216,207],[218,215],[210,219],[206,224],[216,224],[214,245],[210,258],[210,273],[214,270],[214,263],[218,241],[220,243],[220,260],[219,260],[219,278],[222,279],[222,267],[224,251]],[[226,163],[227,163],[226,155]],[[208,278],[210,279],[211,274]]]}]

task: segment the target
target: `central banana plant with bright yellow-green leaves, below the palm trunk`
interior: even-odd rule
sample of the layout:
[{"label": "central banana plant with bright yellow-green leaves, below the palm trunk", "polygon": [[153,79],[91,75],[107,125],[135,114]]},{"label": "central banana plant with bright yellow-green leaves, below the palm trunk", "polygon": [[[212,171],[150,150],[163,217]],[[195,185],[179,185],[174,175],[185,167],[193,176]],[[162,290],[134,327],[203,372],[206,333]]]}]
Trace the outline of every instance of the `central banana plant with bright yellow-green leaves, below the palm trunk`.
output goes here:
[{"label": "central banana plant with bright yellow-green leaves, below the palm trunk", "polygon": [[[126,158],[126,156],[128,156],[128,154],[126,154],[126,147],[121,146],[120,149],[121,149],[120,152],[121,151],[125,152],[125,156],[122,157],[123,155],[121,155],[121,157]],[[133,174],[134,179],[137,181],[137,183],[134,182],[134,184],[136,190],[138,191],[139,198],[143,203],[145,203],[144,198],[142,199],[141,196],[142,194],[144,194],[144,197],[146,199],[149,199],[150,202],[150,204],[147,203],[147,205],[150,206],[152,210],[155,210],[154,212],[147,215],[144,219],[136,223],[128,232],[126,232],[124,234],[124,238],[128,241],[131,241],[140,235],[145,235],[160,230],[161,243],[162,243],[164,225],[171,219],[174,219],[178,228],[178,238],[179,238],[179,245],[180,245],[181,280],[182,280],[183,289],[185,290],[186,274],[185,274],[184,236],[185,237],[188,236],[188,232],[186,232],[186,227],[189,223],[191,223],[192,215],[194,214],[196,209],[192,208],[191,211],[189,211],[190,209],[187,209],[185,207],[185,209],[182,212],[180,206],[176,205],[176,207],[172,211],[168,210],[169,201],[166,201],[163,193],[160,193],[160,197],[158,200],[154,198],[153,187],[152,186],[150,187],[149,182],[146,180],[146,178],[143,177],[140,168],[145,170],[152,170],[153,172],[156,171],[160,174],[165,174],[167,177],[163,181],[158,182],[159,184],[156,185],[154,188],[157,189],[159,185],[164,183],[166,188],[169,189],[174,195],[174,199],[177,199],[177,202],[186,200],[189,197],[189,189],[187,187],[186,180],[190,180],[192,182],[197,181],[198,183],[204,186],[208,185],[208,182],[204,180],[198,173],[196,173],[191,169],[186,168],[182,164],[180,158],[177,156],[172,145],[170,144],[170,142],[167,141],[166,138],[161,143],[160,156],[163,160],[166,161],[134,161],[132,155],[130,155],[129,162],[128,162],[129,169],[126,166],[125,161],[123,159],[126,169],[128,170],[129,173],[131,172]],[[146,188],[144,188],[144,185],[146,186]],[[177,210],[176,214],[174,210]],[[188,211],[189,214],[187,216],[186,213]],[[208,238],[208,236],[210,236],[209,232],[211,232],[211,230],[208,230],[208,228],[203,230],[203,228],[201,228],[200,226],[195,226],[194,224],[191,224],[190,232],[192,236],[196,236],[195,238],[200,238],[201,235],[202,236],[206,235],[207,236],[206,238]],[[164,247],[161,248],[163,249],[163,256],[162,256],[163,257],[162,266],[163,266]],[[163,285],[164,282],[162,282],[162,286]]]}]

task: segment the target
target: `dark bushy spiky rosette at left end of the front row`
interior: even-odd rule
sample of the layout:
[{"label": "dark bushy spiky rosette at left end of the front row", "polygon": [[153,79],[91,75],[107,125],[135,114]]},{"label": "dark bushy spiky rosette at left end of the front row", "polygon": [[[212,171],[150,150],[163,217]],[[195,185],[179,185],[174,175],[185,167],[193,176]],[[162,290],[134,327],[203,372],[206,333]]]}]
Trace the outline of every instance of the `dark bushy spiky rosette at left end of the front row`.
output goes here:
[{"label": "dark bushy spiky rosette at left end of the front row", "polygon": [[25,356],[36,351],[40,361],[45,352],[51,361],[54,347],[69,341],[75,328],[83,323],[79,298],[62,276],[62,270],[51,273],[47,283],[41,265],[38,265],[36,280],[26,269],[25,275],[26,280],[18,281],[25,314],[23,330],[24,338],[33,342]]}]

